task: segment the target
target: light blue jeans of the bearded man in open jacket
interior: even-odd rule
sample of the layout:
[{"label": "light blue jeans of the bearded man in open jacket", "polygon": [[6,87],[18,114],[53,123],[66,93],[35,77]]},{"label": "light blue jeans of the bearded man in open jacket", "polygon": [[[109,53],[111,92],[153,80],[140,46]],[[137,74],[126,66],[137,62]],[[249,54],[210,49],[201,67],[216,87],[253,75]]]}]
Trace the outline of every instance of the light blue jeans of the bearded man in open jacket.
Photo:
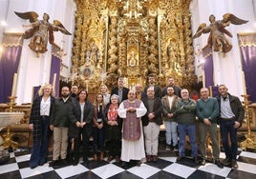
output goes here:
[{"label": "light blue jeans of the bearded man in open jacket", "polygon": [[176,146],[178,144],[177,122],[165,121],[164,126],[166,144],[171,145],[173,141],[173,146]]}]

